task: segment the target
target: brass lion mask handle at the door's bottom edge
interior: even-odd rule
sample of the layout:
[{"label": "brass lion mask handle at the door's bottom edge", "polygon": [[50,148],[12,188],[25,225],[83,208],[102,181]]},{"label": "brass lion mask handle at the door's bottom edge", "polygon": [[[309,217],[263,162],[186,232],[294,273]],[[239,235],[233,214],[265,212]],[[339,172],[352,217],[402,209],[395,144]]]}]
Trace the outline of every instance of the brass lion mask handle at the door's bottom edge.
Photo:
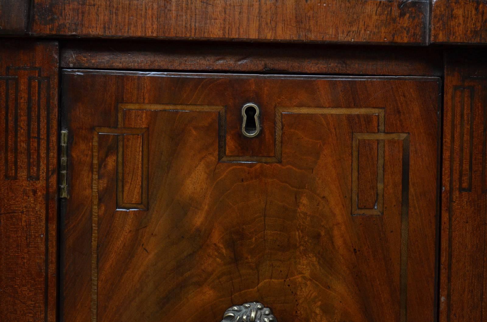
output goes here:
[{"label": "brass lion mask handle at the door's bottom edge", "polygon": [[222,322],[277,322],[271,309],[262,303],[235,305],[225,311]]}]

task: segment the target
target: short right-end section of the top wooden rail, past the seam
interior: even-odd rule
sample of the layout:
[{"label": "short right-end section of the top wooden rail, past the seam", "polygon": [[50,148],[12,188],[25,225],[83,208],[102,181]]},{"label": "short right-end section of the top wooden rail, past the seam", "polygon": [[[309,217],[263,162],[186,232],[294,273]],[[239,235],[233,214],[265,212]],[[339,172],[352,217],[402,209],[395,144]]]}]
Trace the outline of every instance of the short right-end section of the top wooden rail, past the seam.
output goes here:
[{"label": "short right-end section of the top wooden rail, past the seam", "polygon": [[487,43],[487,0],[431,1],[431,42]]}]

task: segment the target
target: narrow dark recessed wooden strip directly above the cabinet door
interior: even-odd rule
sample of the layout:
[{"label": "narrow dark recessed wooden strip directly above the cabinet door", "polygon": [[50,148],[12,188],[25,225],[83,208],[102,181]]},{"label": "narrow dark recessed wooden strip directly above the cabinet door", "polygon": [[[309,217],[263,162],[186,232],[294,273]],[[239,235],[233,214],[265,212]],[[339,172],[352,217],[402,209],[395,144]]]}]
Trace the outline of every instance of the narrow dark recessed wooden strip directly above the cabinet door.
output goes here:
[{"label": "narrow dark recessed wooden strip directly above the cabinet door", "polygon": [[63,46],[60,59],[64,68],[443,75],[442,52],[423,47],[76,40]]}]

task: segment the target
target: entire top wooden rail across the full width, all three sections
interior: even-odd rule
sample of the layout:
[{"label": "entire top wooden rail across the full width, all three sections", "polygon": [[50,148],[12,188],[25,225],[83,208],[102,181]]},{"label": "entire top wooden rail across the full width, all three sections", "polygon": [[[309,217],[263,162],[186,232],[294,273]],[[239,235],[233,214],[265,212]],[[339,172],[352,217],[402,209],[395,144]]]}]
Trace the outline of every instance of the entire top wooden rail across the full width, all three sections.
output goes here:
[{"label": "entire top wooden rail across the full width, all three sections", "polygon": [[0,35],[486,44],[486,23],[487,0],[0,1]]}]

